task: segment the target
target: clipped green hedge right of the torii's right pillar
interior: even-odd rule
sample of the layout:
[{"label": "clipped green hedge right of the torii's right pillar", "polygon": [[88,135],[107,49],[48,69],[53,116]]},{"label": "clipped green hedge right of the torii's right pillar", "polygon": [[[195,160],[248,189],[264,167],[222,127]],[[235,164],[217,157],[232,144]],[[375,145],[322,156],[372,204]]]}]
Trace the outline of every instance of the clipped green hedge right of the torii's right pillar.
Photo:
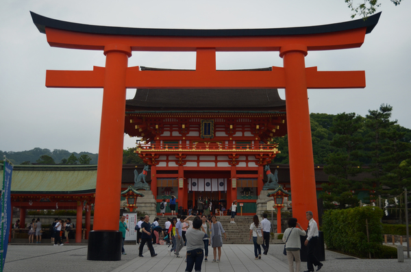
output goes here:
[{"label": "clipped green hedge right of the torii's right pillar", "polygon": [[[377,256],[382,246],[383,211],[376,207],[329,210],[323,215],[324,240],[329,249],[358,257]],[[366,232],[368,221],[369,242]]]}]

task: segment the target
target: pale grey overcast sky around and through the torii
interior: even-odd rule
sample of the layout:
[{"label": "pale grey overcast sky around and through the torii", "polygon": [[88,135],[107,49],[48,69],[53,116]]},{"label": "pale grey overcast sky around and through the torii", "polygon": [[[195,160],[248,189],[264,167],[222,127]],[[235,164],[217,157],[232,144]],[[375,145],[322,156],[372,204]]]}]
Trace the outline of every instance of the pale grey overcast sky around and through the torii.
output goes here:
[{"label": "pale grey overcast sky around and through the torii", "polygon": [[[366,88],[308,90],[310,112],[362,116],[382,103],[411,128],[411,1],[382,0],[379,23],[358,49],[310,51],[319,71],[365,71]],[[98,153],[102,89],[46,88],[46,70],[104,66],[102,51],[50,47],[29,11],[62,21],[122,27],[230,29],[327,25],[351,21],[344,0],[0,1],[0,150],[34,147]],[[283,66],[278,52],[217,53],[217,69]],[[133,52],[129,66],[195,69],[194,53]],[[135,90],[127,90],[127,99]],[[280,90],[284,99],[284,90]],[[125,148],[135,147],[125,136]]]}]

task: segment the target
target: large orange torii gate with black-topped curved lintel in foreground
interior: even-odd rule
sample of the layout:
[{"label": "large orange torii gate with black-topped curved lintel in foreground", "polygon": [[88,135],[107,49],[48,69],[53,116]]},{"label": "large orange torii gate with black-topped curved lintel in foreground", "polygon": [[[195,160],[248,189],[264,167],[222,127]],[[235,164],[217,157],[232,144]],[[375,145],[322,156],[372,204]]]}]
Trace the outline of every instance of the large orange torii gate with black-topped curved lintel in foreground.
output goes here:
[{"label": "large orange torii gate with black-topped curved lintel in foreground", "polygon": [[[88,260],[121,260],[119,203],[126,88],[285,88],[292,213],[307,225],[318,220],[308,88],[364,88],[364,71],[306,68],[308,51],[360,47],[380,13],[332,25],[279,29],[142,29],[58,21],[32,12],[51,47],[101,50],[105,67],[92,71],[47,71],[46,86],[103,88],[94,231]],[[128,67],[132,51],[195,51],[195,71],[140,71]],[[216,51],[279,51],[273,71],[216,71]]]}]

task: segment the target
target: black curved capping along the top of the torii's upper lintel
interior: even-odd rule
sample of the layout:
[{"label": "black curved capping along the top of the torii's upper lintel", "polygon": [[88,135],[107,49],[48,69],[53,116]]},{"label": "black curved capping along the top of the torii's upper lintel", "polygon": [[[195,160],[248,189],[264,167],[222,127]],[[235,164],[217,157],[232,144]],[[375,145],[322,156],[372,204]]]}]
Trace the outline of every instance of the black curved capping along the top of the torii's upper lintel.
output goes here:
[{"label": "black curved capping along the top of the torii's upper lintel", "polygon": [[38,30],[45,34],[46,27],[67,30],[71,32],[82,32],[89,34],[105,35],[127,35],[127,36],[197,36],[197,37],[218,37],[218,36],[289,36],[289,35],[310,35],[330,32],[340,32],[349,29],[366,27],[366,34],[371,33],[377,25],[381,12],[369,16],[366,19],[358,19],[343,23],[333,23],[329,25],[314,25],[308,27],[283,27],[264,29],[159,29],[159,28],[134,28],[134,27],[108,27],[102,25],[85,25],[81,23],[71,23],[55,20],[41,16],[34,12],[33,23]]}]

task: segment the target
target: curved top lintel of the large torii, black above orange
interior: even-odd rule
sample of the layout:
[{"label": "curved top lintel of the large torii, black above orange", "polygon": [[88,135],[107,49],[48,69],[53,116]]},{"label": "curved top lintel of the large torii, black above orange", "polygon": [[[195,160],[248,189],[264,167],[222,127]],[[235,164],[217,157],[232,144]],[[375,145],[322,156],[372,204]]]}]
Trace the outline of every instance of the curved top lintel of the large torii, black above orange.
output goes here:
[{"label": "curved top lintel of the large torii, black above orange", "polygon": [[[52,47],[101,50],[107,45],[109,38],[110,42],[116,40],[130,45],[132,51],[196,51],[198,48],[215,48],[216,51],[279,51],[284,44],[301,43],[301,38],[308,50],[360,47],[364,41],[364,34],[371,33],[377,25],[381,12],[366,20],[266,29],[108,27],[55,20],[34,12],[31,12],[31,15],[38,30],[47,34],[47,40]],[[56,30],[60,35],[55,33]],[[92,40],[89,39],[90,34],[94,34]],[[183,37],[184,43],[181,42]],[[167,45],[160,47],[158,40],[153,38],[166,38]]]}]

